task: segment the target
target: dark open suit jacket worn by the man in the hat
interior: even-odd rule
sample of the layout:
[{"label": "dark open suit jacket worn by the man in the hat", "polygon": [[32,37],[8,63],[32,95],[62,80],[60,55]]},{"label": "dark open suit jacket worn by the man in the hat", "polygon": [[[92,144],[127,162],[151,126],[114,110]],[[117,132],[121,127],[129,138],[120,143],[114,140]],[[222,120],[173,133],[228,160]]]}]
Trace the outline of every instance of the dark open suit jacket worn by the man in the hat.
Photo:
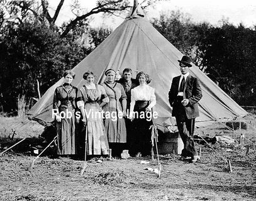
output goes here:
[{"label": "dark open suit jacket worn by the man in the hat", "polygon": [[[179,80],[181,79],[181,75],[174,77],[172,79],[172,85],[169,91],[169,102],[172,107],[172,116],[179,116],[177,114],[177,94],[179,90]],[[199,80],[196,77],[192,77],[192,75],[188,75],[184,92],[183,99],[189,99],[189,104],[184,106],[184,109],[187,114],[188,119],[193,119],[199,117],[198,111],[198,101],[202,98],[202,91],[199,84]]]}]

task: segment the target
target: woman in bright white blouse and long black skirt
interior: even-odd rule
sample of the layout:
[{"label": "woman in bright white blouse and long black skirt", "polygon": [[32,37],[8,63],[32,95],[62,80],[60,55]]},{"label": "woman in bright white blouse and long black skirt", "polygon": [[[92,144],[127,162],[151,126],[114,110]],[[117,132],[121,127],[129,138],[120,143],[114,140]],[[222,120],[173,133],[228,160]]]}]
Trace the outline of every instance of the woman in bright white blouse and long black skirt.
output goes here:
[{"label": "woman in bright white blouse and long black skirt", "polygon": [[147,156],[151,148],[152,107],[156,104],[155,89],[150,87],[148,75],[139,72],[136,80],[138,87],[131,89],[130,119],[132,121],[133,136],[131,136],[131,154]]}]

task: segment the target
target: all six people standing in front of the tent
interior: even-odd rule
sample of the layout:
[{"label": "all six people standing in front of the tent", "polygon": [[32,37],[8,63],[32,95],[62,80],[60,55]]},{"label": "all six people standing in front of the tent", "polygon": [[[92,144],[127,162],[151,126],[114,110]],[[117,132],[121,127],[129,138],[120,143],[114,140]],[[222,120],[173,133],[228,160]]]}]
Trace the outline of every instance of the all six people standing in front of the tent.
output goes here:
[{"label": "all six people standing in front of the tent", "polygon": [[[189,74],[191,58],[184,56],[178,62],[181,75],[172,79],[169,103],[184,143],[181,160],[189,158],[194,163],[199,156],[192,136],[202,92],[199,80]],[[106,70],[105,75],[102,85],[94,84],[96,75],[88,71],[83,76],[86,84],[77,89],[71,84],[75,73],[65,71],[65,83],[57,87],[53,97],[53,109],[58,109],[58,155],[76,155],[85,141],[87,155],[108,155],[109,148],[114,155],[120,155],[123,149],[134,156],[150,154],[149,128],[153,122],[147,117],[152,117],[156,104],[155,89],[148,85],[150,78],[139,72],[132,79],[130,68],[123,70],[120,80],[116,80],[113,69]],[[60,112],[72,112],[72,116]],[[75,115],[77,112],[81,115]]]}]

